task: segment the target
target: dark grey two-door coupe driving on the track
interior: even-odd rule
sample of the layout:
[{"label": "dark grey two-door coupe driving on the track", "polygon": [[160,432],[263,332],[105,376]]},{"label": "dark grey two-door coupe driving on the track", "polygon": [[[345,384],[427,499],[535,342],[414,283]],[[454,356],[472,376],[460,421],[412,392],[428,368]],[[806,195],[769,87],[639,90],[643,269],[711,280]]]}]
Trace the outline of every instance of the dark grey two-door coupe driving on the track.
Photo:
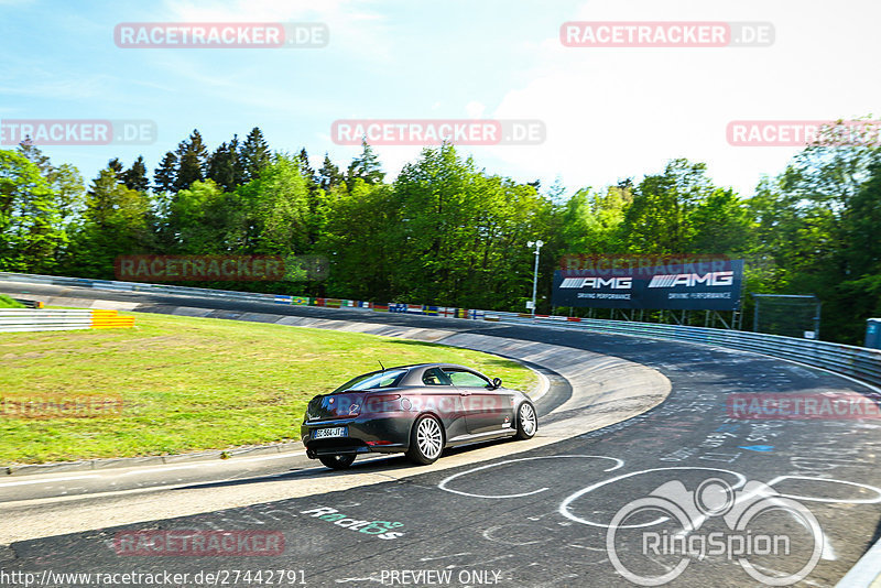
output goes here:
[{"label": "dark grey two-door coupe driving on the track", "polygon": [[446,447],[539,429],[529,396],[453,363],[388,368],[312,399],[300,431],[306,455],[334,469],[358,454],[405,453],[427,465]]}]

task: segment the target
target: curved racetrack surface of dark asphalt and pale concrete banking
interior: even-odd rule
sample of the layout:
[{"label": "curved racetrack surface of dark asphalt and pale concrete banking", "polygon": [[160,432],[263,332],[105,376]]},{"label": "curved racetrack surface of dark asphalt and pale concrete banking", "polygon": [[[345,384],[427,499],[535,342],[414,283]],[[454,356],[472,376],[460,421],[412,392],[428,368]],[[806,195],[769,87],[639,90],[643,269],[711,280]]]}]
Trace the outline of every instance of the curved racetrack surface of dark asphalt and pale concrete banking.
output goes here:
[{"label": "curved racetrack surface of dark asphalt and pale concrete banking", "polygon": [[[44,585],[87,585],[59,573],[137,573],[254,586],[258,573],[268,585],[274,570],[276,582],[314,586],[632,586],[665,577],[672,586],[834,586],[877,538],[878,421],[743,420],[726,407],[730,394],[874,393],[827,371],[568,329],[33,284],[0,290],[54,304],[410,336],[526,360],[554,384],[540,401],[541,437],[457,450],[426,468],[381,458],[337,473],[275,457],[267,460],[274,472],[242,461],[240,476],[113,492],[113,476],[126,470],[107,470],[86,492],[10,498],[0,504],[0,569],[55,581]],[[31,484],[34,492],[83,483],[52,476],[63,473],[7,477],[0,491],[37,478],[46,480]],[[738,511],[749,525],[729,521]],[[218,535],[238,537],[238,547],[194,547]],[[152,551],[132,555],[144,536]]]}]

